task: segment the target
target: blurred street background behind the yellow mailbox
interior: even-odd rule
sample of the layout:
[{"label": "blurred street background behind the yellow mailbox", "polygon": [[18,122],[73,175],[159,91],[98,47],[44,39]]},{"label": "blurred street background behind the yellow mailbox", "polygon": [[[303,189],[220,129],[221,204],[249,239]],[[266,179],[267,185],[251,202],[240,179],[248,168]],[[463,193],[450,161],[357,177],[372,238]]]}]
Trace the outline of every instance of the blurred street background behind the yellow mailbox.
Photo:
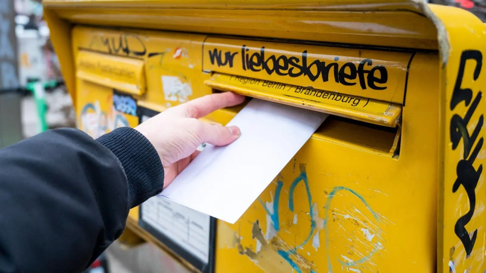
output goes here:
[{"label": "blurred street background behind the yellow mailbox", "polygon": [[[0,66],[3,73],[0,75],[0,147],[48,129],[76,125],[71,98],[50,41],[49,28],[43,20],[42,0],[13,1],[15,12],[10,12],[11,17],[2,18],[0,22]],[[428,2],[469,10],[486,22],[486,0]],[[125,250],[114,243],[87,272],[160,272],[161,268],[168,268],[168,260],[167,254],[152,244]],[[169,272],[187,270],[174,265]]]}]

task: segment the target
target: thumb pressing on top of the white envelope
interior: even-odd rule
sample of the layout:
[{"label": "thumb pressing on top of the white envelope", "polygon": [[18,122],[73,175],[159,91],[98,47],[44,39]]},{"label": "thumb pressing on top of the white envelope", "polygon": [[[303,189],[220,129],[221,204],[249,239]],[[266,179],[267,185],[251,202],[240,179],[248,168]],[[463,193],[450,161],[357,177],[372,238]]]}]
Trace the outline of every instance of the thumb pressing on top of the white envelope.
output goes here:
[{"label": "thumb pressing on top of the white envelope", "polygon": [[224,127],[214,124],[202,123],[200,136],[203,142],[216,146],[225,146],[232,143],[241,135],[240,129],[236,126]]}]

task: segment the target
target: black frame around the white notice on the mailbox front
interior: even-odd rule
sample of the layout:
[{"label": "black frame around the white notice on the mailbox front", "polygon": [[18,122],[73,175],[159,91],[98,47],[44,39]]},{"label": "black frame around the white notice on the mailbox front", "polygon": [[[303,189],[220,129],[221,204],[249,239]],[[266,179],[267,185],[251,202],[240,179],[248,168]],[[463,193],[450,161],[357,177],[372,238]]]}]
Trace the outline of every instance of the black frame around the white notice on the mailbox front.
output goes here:
[{"label": "black frame around the white notice on the mailbox front", "polygon": [[[137,115],[139,116],[139,123],[142,123],[142,118],[146,117],[153,117],[157,115],[159,112],[138,106],[137,107]],[[143,203],[139,206],[139,225],[143,229],[145,229],[148,233],[154,236],[156,239],[160,240],[167,248],[172,250],[175,254],[185,259],[189,262],[194,268],[200,270],[202,273],[213,273],[215,267],[215,250],[216,250],[216,218],[209,217],[209,242],[208,242],[208,263],[204,263],[196,256],[192,255],[189,251],[184,249],[181,245],[179,245],[174,240],[170,239],[168,236],[164,235],[160,231],[158,231],[155,227],[153,227],[150,223],[145,222],[143,220]]]}]

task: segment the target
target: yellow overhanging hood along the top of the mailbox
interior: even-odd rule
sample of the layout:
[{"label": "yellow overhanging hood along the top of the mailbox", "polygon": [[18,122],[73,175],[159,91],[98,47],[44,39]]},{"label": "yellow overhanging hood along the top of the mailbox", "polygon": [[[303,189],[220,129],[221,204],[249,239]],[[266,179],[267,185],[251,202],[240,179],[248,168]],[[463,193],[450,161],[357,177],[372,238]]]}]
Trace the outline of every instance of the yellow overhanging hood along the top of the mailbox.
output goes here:
[{"label": "yellow overhanging hood along the top of the mailbox", "polygon": [[[246,35],[286,40],[437,50],[436,28],[422,1],[372,0],[45,0],[44,15],[69,92],[73,24]],[[75,100],[73,96],[73,100]]]}]

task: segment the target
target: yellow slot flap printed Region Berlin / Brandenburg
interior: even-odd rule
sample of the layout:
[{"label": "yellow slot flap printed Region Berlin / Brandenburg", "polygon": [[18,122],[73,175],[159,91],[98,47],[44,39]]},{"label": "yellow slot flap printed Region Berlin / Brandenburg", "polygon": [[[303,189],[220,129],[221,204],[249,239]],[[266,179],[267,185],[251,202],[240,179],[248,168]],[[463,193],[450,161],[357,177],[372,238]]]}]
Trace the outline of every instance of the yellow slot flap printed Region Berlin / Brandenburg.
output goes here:
[{"label": "yellow slot flap printed Region Berlin / Brandenburg", "polygon": [[401,105],[337,92],[272,81],[213,73],[205,84],[211,88],[279,102],[382,126],[395,127]]}]

